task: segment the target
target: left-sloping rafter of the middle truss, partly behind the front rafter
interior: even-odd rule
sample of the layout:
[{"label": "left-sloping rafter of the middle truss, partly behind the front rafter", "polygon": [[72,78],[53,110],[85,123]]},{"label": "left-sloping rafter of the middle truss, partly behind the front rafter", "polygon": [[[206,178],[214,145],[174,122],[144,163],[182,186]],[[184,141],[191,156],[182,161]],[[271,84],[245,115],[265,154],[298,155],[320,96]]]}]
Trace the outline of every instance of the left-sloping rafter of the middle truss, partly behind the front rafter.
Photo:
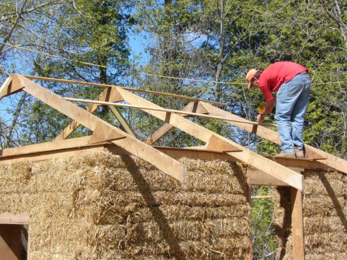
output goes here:
[{"label": "left-sloping rafter of the middle truss, partly behind the front rafter", "polygon": [[[121,97],[119,96],[118,92],[116,92],[115,88],[107,88],[104,90],[99,97],[97,98],[98,101],[110,101],[110,102],[119,102],[121,101]],[[90,113],[94,113],[94,111],[99,107],[98,104],[90,104],[87,107],[87,111]],[[64,130],[56,137],[56,141],[60,141],[63,139],[66,139],[69,135],[71,135],[76,128],[80,126],[80,123],[73,120],[68,126],[65,127]]]}]

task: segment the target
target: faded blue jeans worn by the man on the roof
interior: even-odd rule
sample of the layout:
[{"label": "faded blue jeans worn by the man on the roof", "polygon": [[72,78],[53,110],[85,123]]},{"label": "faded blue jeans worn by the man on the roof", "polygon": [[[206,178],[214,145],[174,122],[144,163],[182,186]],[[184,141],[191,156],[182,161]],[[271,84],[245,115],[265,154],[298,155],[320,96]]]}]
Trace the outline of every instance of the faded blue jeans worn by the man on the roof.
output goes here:
[{"label": "faded blue jeans worn by the man on the roof", "polygon": [[282,153],[292,152],[294,147],[302,150],[302,132],[310,91],[309,75],[300,73],[283,83],[277,93],[275,119]]}]

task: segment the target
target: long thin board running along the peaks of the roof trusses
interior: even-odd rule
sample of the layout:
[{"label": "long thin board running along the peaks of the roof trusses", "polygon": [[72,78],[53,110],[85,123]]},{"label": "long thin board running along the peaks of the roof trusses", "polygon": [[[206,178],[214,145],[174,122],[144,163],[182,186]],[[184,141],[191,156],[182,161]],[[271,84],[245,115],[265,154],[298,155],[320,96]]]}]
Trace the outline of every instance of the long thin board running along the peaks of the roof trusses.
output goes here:
[{"label": "long thin board running along the peaks of the roof trusses", "polygon": [[125,87],[120,87],[120,86],[115,86],[115,85],[91,83],[91,82],[84,82],[84,81],[74,81],[74,80],[66,80],[66,79],[55,79],[55,78],[46,78],[46,77],[38,77],[38,76],[29,76],[29,75],[23,75],[23,76],[28,78],[28,79],[55,81],[55,82],[62,82],[62,83],[69,83],[69,84],[76,84],[76,85],[87,85],[87,86],[94,86],[94,87],[101,87],[101,88],[119,87],[119,88],[122,88],[122,89],[125,89],[128,91],[139,92],[139,93],[147,93],[147,94],[152,94],[152,95],[173,97],[173,98],[184,99],[184,100],[202,101],[202,102],[207,102],[207,103],[217,104],[217,105],[223,105],[223,106],[228,105],[226,103],[221,103],[221,102],[212,101],[212,100],[197,99],[197,98],[191,98],[191,97],[186,97],[186,96],[182,96],[182,95],[175,95],[175,94],[163,93],[163,92],[151,91],[151,90],[125,88]]}]

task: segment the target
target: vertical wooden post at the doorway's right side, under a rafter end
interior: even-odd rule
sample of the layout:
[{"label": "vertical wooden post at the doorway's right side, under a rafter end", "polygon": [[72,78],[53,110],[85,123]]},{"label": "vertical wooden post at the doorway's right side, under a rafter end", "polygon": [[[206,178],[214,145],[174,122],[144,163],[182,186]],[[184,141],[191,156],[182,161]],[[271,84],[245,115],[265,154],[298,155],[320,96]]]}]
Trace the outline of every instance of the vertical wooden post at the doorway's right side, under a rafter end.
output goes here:
[{"label": "vertical wooden post at the doorway's right side, under a rafter end", "polygon": [[305,259],[305,240],[303,232],[302,193],[291,187],[291,235],[293,238],[294,260]]}]

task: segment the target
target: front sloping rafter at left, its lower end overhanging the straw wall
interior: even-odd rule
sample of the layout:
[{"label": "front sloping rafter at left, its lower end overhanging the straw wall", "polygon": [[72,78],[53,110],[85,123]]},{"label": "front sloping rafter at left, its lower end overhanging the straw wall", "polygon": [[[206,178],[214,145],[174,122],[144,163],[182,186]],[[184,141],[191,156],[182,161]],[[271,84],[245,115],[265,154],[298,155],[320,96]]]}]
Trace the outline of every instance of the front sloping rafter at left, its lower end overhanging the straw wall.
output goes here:
[{"label": "front sloping rafter at left, its lower end overhanging the straw wall", "polygon": [[112,141],[112,143],[122,147],[132,155],[148,161],[174,179],[182,183],[186,181],[186,166],[182,163],[174,160],[170,156],[159,152],[153,147],[142,143],[129,134],[119,130],[115,126],[103,121],[102,119],[80,108],[79,106],[64,100],[63,98],[35,84],[29,79],[21,75],[19,75],[19,78],[21,79],[22,85],[24,86],[23,90],[27,93],[52,106],[59,112],[69,116],[80,124],[88,127],[92,131],[100,129],[100,127],[102,126],[104,131],[117,132],[119,136],[124,136],[125,138],[114,140]]}]

